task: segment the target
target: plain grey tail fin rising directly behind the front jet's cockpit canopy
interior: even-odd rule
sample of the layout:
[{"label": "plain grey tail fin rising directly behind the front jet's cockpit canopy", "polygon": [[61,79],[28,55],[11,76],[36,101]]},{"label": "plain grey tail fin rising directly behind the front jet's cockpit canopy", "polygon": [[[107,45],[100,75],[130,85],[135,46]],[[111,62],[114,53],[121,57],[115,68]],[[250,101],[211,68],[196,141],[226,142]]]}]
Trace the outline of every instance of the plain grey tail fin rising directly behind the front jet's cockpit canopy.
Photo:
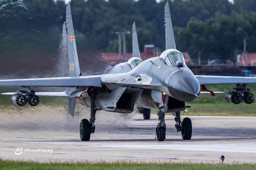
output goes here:
[{"label": "plain grey tail fin rising directly behind the front jet's cockpit canopy", "polygon": [[165,22],[165,43],[166,49],[176,49],[174,33],[172,28],[171,12],[168,1],[164,6],[164,22]]}]

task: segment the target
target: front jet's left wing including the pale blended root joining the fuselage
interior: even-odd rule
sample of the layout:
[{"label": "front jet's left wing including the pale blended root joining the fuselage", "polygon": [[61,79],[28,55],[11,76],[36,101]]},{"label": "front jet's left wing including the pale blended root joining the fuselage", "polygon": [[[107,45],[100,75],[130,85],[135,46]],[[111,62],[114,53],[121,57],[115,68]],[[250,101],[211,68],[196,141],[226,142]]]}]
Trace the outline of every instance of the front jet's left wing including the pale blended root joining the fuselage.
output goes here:
[{"label": "front jet's left wing including the pale blended root joining the fuselage", "polygon": [[[141,78],[141,80],[138,80]],[[106,74],[97,76],[63,77],[63,78],[30,78],[30,79],[11,79],[0,80],[0,86],[43,86],[43,87],[76,87],[76,86],[95,86],[102,85],[128,86],[138,88],[154,88],[162,86],[159,81],[152,77],[141,74],[140,77],[128,76],[126,73]]]}]

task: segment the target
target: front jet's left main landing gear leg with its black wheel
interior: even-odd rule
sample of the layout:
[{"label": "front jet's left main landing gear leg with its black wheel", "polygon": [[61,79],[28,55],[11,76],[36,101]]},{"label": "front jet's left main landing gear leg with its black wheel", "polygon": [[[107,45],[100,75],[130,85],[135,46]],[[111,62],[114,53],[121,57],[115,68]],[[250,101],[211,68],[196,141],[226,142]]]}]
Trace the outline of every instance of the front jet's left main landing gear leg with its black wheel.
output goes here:
[{"label": "front jet's left main landing gear leg with its black wheel", "polygon": [[97,91],[92,89],[90,92],[91,97],[91,118],[90,121],[87,119],[83,119],[80,122],[80,138],[82,141],[89,141],[91,134],[95,132],[95,115],[97,111],[97,107],[95,106],[95,96],[97,94]]}]

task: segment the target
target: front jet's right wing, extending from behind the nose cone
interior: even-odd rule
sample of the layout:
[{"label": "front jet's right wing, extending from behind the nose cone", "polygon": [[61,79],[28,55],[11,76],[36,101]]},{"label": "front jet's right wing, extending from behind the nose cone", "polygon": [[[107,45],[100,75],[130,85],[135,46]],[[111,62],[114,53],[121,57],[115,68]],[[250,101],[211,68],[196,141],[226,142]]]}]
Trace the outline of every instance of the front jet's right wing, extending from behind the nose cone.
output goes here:
[{"label": "front jet's right wing, extending from behind the nose cone", "polygon": [[255,77],[196,76],[200,85],[252,84]]}]

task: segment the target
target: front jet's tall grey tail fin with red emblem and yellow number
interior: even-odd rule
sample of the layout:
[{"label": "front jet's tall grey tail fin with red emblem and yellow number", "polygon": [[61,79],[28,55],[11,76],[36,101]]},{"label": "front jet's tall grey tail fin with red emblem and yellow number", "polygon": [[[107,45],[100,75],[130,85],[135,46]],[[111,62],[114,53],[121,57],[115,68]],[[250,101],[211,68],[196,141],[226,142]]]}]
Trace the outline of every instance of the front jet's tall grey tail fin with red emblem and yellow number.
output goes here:
[{"label": "front jet's tall grey tail fin with red emblem and yellow number", "polygon": [[70,3],[67,5],[66,11],[66,29],[68,37],[68,69],[69,77],[80,76],[80,67],[76,50],[76,38],[74,33],[73,21],[71,16]]}]

